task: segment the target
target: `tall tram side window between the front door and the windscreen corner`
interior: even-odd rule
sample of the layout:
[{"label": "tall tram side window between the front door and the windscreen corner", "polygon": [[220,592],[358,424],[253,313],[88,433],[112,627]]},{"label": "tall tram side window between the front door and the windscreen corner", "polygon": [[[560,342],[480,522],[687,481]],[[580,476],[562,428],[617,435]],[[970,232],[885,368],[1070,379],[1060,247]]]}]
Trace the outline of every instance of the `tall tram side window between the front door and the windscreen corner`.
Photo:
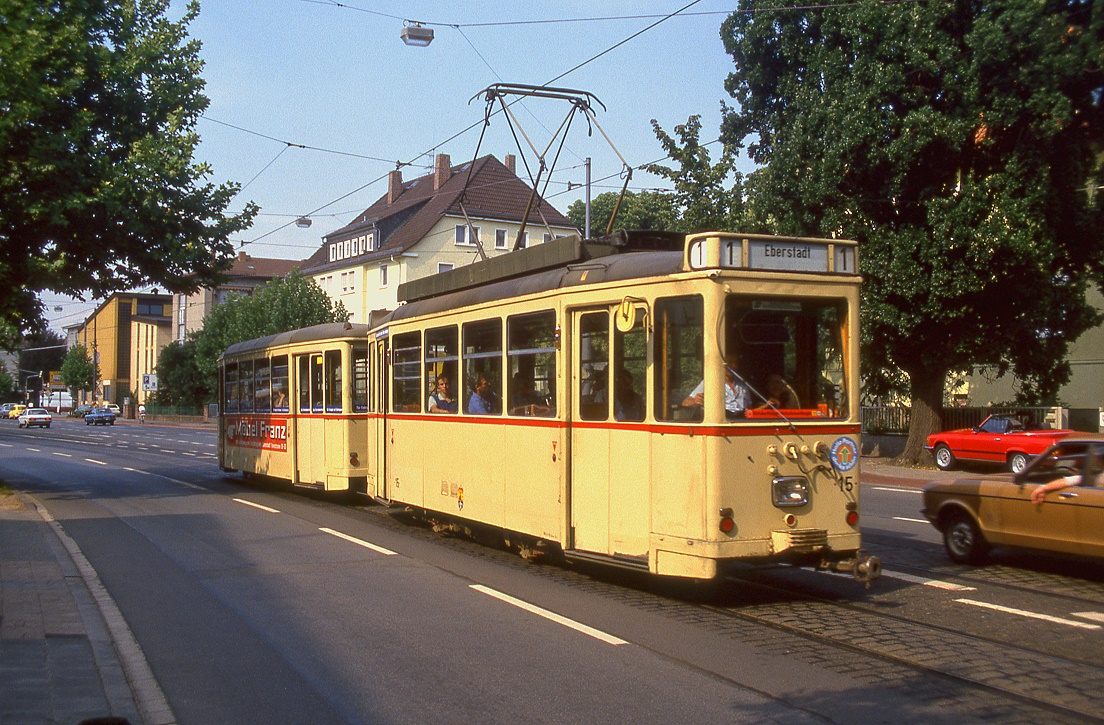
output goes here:
[{"label": "tall tram side window between the front door and the windscreen corner", "polygon": [[652,413],[657,420],[693,419],[701,408],[681,404],[704,377],[702,298],[657,299],[655,316]]}]

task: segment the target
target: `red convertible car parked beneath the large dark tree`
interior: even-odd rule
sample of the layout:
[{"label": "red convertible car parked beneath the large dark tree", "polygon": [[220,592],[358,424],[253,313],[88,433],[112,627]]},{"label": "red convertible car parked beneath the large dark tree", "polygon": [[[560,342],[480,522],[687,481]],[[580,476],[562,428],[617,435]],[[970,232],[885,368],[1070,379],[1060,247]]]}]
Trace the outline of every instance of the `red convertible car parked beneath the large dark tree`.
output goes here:
[{"label": "red convertible car parked beneath the large dark tree", "polygon": [[932,451],[940,470],[951,470],[960,458],[1004,463],[1011,472],[1019,473],[1032,456],[1073,433],[1068,429],[1028,430],[1018,418],[990,415],[974,428],[932,434],[924,448]]}]

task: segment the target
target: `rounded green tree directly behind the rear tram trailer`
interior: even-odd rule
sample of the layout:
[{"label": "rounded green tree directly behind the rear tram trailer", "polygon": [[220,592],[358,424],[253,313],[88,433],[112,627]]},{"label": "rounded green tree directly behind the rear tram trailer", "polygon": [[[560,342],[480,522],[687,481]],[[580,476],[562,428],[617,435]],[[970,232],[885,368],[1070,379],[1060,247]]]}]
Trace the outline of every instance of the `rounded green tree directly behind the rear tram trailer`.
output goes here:
[{"label": "rounded green tree directly behind the rear tram trailer", "polygon": [[[348,319],[344,306],[341,302],[335,305],[321,287],[298,269],[284,279],[274,279],[252,296],[231,297],[212,310],[203,322],[203,329],[192,337],[195,370],[204,390],[209,391],[206,401],[211,401],[217,390],[219,355],[230,345],[311,324],[344,322]],[[170,359],[168,362],[170,380],[173,380],[176,372],[172,371],[172,365],[187,361]],[[167,372],[162,371],[162,360],[159,360],[158,387],[161,387],[160,375]],[[174,394],[177,393],[168,393]]]}]

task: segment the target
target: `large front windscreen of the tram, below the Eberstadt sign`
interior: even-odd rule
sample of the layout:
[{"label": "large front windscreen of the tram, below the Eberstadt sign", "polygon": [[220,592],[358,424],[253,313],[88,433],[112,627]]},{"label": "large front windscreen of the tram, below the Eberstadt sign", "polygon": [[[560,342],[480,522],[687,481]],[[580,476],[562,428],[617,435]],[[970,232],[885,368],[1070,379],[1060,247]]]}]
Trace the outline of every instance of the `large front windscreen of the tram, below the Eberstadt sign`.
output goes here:
[{"label": "large front windscreen of the tram, below the Eberstadt sign", "polygon": [[839,300],[725,300],[725,356],[747,391],[746,418],[847,416]]}]

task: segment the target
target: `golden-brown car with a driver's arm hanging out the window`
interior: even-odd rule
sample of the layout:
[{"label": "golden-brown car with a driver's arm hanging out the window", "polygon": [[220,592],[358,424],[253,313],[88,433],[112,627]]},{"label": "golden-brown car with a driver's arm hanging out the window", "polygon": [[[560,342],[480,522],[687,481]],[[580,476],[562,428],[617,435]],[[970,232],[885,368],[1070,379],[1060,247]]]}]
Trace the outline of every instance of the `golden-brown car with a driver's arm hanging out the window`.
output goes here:
[{"label": "golden-brown car with a driver's arm hanging out the window", "polygon": [[[1104,436],[1075,434],[1015,476],[928,483],[923,513],[960,564],[980,563],[991,546],[1104,557],[1102,472]],[[1045,483],[1064,488],[1048,487],[1032,501]]]}]

